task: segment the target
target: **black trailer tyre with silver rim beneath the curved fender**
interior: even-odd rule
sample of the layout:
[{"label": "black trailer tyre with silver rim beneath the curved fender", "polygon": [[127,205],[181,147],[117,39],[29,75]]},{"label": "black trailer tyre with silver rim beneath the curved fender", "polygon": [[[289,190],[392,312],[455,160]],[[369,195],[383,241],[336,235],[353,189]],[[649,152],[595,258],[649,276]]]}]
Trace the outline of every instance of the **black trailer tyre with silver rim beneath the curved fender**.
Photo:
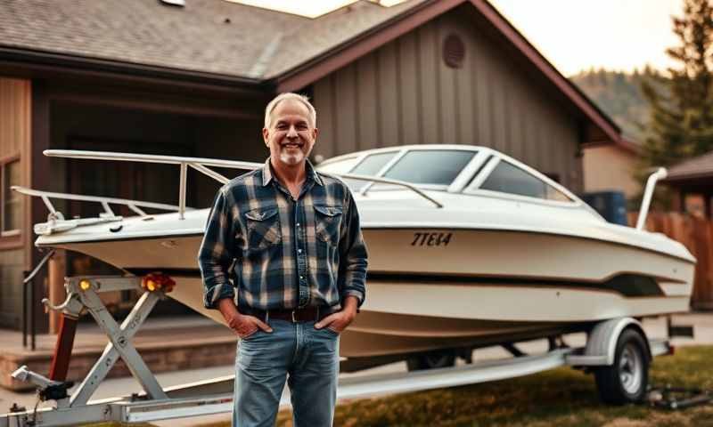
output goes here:
[{"label": "black trailer tyre with silver rim beneath the curved fender", "polygon": [[614,365],[594,371],[599,398],[610,405],[643,400],[649,384],[649,355],[643,336],[625,329],[617,341]]}]

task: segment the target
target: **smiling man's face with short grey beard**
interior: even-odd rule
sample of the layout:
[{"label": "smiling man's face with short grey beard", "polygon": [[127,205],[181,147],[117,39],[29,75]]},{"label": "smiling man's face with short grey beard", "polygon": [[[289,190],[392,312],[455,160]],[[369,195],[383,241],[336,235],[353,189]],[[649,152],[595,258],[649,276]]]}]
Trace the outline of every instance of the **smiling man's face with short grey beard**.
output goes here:
[{"label": "smiling man's face with short grey beard", "polygon": [[304,163],[315,145],[317,133],[317,128],[309,122],[307,106],[294,100],[277,104],[270,128],[262,130],[270,156],[286,166]]}]

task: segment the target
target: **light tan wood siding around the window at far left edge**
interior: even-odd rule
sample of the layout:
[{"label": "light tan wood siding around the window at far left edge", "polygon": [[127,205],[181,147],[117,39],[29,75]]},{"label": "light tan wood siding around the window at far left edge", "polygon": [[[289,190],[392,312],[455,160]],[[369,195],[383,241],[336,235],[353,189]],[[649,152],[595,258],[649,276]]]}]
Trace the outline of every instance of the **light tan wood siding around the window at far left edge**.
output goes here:
[{"label": "light tan wood siding around the window at far left edge", "polygon": [[[31,87],[28,80],[0,77],[0,159],[20,157],[20,185],[29,183]],[[0,326],[20,325],[22,270],[29,245],[29,197],[23,203],[20,236],[0,238]]]}]

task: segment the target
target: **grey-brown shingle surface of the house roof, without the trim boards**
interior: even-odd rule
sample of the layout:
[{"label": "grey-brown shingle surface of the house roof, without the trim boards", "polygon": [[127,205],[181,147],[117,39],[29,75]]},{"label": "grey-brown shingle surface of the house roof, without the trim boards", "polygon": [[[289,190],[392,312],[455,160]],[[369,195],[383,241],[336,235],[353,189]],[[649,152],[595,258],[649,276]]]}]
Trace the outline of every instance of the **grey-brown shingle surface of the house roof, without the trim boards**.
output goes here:
[{"label": "grey-brown shingle surface of the house roof, without the trim boards", "polygon": [[0,46],[266,79],[422,1],[309,19],[225,0],[4,0]]}]

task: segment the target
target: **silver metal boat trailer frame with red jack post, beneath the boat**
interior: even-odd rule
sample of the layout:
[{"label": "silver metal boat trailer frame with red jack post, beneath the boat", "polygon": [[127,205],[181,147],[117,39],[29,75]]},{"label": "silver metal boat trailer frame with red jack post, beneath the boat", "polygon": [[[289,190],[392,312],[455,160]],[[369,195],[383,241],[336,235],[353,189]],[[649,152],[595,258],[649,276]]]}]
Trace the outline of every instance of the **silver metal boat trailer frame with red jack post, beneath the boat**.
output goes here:
[{"label": "silver metal boat trailer frame with red jack post, beneath the boat", "polygon": [[[41,401],[53,401],[54,407],[28,410],[13,405],[9,413],[0,415],[0,427],[57,426],[76,423],[144,423],[188,416],[213,415],[232,411],[234,376],[214,378],[162,388],[139,355],[132,337],[156,305],[174,286],[173,280],[160,274],[143,278],[135,276],[94,276],[65,279],[67,299],[59,306],[43,300],[51,310],[61,311],[60,333],[54,350],[48,377],[20,367],[12,377],[33,383]],[[143,291],[133,310],[119,325],[111,317],[99,294],[135,289]],[[102,328],[108,343],[77,389],[70,394],[73,383],[66,381],[71,348],[80,315],[88,312]],[[627,334],[625,334],[626,331]],[[374,394],[423,391],[442,387],[485,383],[530,375],[555,367],[571,366],[591,369],[616,369],[620,364],[620,338],[638,336],[645,342],[644,359],[670,354],[668,340],[648,340],[642,326],[634,318],[614,318],[602,321],[588,334],[586,347],[551,348],[544,354],[520,355],[472,365],[443,367],[414,372],[364,375],[341,378],[338,399],[356,399]],[[112,399],[90,401],[94,391],[109,374],[111,367],[123,359],[131,375],[143,388],[142,393]],[[619,363],[615,364],[615,361]],[[648,363],[645,364],[648,369]],[[646,372],[648,374],[648,372]],[[622,374],[623,375],[623,374]],[[622,376],[623,378],[623,376]],[[601,389],[601,387],[600,387]],[[601,390],[600,390],[601,391]],[[38,401],[39,403],[39,401]],[[286,402],[285,402],[286,403]]]}]

